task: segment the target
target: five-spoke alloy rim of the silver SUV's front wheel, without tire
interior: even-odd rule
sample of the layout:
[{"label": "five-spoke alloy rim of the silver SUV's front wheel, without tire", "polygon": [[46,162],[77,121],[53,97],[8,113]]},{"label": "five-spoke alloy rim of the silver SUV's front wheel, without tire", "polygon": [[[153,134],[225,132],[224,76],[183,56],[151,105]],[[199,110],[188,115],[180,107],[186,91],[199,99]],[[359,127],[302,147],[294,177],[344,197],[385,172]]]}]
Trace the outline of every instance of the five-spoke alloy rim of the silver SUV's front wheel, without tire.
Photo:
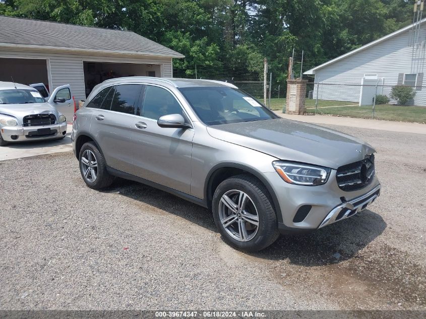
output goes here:
[{"label": "five-spoke alloy rim of the silver SUV's front wheel, without tire", "polygon": [[219,202],[223,228],[235,240],[249,241],[259,229],[259,214],[252,199],[241,190],[228,190]]}]

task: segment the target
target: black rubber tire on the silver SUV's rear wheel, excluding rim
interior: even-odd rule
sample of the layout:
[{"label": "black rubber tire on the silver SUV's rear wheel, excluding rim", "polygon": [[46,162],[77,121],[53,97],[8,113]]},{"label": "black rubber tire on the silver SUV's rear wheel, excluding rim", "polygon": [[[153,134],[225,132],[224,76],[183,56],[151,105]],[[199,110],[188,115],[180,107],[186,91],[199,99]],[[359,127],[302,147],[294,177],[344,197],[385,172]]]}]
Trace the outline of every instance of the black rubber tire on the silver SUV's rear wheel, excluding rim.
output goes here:
[{"label": "black rubber tire on the silver SUV's rear wheel, excluding rim", "polygon": [[[86,164],[82,164],[82,157],[83,154],[85,154],[85,151],[91,151],[92,154],[95,156],[96,163],[97,163],[97,172],[96,177],[93,181],[90,181],[88,177],[85,176],[85,172],[83,171],[83,166]],[[106,162],[105,158],[103,157],[102,153],[98,150],[96,144],[94,142],[87,142],[85,143],[79,154],[79,166],[80,166],[80,173],[83,177],[84,182],[87,186],[93,189],[101,189],[108,187],[112,184],[114,181],[114,177],[109,175],[106,170]]]}]

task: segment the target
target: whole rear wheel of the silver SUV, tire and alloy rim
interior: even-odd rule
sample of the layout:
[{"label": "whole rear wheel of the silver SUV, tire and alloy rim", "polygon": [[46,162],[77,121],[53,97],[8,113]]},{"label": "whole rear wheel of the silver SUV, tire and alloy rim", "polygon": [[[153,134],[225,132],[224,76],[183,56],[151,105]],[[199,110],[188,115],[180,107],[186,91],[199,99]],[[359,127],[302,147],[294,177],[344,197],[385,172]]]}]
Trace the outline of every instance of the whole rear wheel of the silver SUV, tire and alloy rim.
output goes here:
[{"label": "whole rear wheel of the silver SUV, tire and alloy rim", "polygon": [[111,185],[114,177],[106,171],[105,158],[94,142],[83,145],[79,154],[80,172],[83,180],[93,189]]}]

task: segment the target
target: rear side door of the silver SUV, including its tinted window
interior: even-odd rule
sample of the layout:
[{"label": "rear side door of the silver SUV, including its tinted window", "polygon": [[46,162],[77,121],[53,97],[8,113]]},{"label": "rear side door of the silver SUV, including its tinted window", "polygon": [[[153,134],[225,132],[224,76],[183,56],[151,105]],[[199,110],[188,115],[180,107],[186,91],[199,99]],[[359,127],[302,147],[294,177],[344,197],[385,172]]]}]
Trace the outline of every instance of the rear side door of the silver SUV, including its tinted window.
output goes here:
[{"label": "rear side door of the silver SUV, including its tinted window", "polygon": [[[133,144],[132,123],[137,117],[140,84],[120,84],[99,92],[86,106],[92,110],[90,133],[99,144],[108,166],[132,172]],[[99,106],[100,103],[100,106]]]}]

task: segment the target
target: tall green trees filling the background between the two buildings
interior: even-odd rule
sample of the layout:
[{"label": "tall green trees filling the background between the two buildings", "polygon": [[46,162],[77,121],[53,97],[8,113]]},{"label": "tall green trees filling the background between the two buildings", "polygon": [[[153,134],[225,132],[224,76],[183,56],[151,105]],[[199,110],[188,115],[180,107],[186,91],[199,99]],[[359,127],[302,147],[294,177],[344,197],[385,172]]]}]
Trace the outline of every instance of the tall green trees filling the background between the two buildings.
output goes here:
[{"label": "tall green trees filling the background between the two buildings", "polygon": [[[0,0],[0,14],[134,31],[185,55],[174,76],[261,80],[268,58],[284,87],[303,70],[410,23],[408,0]],[[293,71],[300,73],[300,63]]]}]

